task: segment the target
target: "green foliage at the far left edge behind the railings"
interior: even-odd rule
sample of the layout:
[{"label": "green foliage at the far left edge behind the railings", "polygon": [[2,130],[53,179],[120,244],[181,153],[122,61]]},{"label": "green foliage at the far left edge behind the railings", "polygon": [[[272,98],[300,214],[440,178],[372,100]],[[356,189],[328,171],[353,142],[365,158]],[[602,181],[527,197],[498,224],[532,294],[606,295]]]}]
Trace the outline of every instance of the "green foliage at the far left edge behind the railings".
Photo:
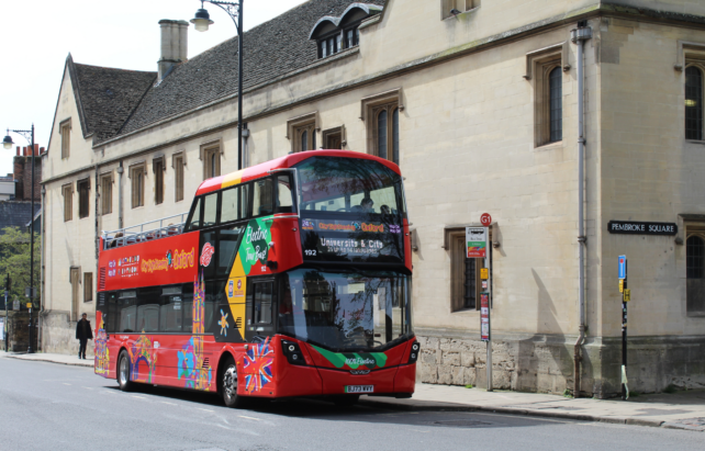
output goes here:
[{"label": "green foliage at the far left edge behind the railings", "polygon": [[[0,286],[4,289],[7,274],[10,274],[11,290],[8,301],[14,298],[25,303],[24,289],[30,286],[30,233],[20,227],[7,227],[0,235]],[[42,256],[40,253],[40,235],[34,234],[34,303],[38,303],[40,296],[40,267]],[[4,294],[4,293],[2,293]],[[4,301],[4,298],[3,298]],[[2,302],[0,302],[2,305]]]}]

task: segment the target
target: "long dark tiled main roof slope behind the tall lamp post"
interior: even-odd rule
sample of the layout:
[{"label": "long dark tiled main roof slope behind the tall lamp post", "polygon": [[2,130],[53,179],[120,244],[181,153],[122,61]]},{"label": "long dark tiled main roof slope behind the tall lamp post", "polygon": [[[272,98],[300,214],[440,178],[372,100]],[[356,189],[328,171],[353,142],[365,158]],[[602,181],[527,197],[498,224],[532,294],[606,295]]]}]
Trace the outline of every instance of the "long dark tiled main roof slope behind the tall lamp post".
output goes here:
[{"label": "long dark tiled main roof slope behind the tall lamp post", "polygon": [[[365,0],[384,5],[385,0]],[[244,89],[301,69],[317,59],[316,43],[309,40],[324,15],[339,15],[350,0],[309,0],[245,33]],[[221,14],[222,15],[222,14]],[[235,27],[225,18],[221,26]],[[191,31],[193,33],[193,31]],[[237,92],[237,36],[175,68],[144,97],[119,134],[137,131]],[[156,44],[155,44],[156,45]],[[87,114],[88,115],[88,114]]]}]

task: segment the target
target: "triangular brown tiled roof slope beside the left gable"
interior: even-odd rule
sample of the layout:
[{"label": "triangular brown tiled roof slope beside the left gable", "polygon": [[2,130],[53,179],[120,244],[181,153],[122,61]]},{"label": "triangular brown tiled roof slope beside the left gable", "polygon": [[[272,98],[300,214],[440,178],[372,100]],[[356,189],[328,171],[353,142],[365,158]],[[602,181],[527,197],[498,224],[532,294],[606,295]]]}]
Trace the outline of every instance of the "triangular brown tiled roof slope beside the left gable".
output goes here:
[{"label": "triangular brown tiled roof slope beside the left gable", "polygon": [[72,64],[71,70],[82,106],[83,132],[96,133],[98,140],[120,132],[157,78],[157,72],[79,64]]}]

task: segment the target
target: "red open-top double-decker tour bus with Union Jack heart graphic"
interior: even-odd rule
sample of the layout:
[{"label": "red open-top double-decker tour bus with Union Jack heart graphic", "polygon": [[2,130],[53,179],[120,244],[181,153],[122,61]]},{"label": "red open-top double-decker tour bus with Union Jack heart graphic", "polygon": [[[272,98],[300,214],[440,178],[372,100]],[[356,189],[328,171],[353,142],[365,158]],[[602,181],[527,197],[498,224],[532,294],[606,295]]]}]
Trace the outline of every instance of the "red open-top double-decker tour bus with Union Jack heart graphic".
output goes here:
[{"label": "red open-top double-decker tour bus with Union Jack heart graphic", "polygon": [[209,179],[188,215],[103,233],[100,249],[96,373],[122,390],[235,407],[414,392],[409,222],[388,160],[304,151]]}]

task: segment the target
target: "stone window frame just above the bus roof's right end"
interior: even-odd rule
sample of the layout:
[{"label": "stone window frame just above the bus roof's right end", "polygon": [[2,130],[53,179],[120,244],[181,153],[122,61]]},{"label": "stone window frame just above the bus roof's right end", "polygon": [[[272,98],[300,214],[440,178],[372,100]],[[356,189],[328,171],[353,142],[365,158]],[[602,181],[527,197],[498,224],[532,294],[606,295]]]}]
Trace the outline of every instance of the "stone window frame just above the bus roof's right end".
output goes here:
[{"label": "stone window frame just above the bus roof's right end", "polygon": [[[368,95],[360,100],[360,120],[366,123],[367,128],[367,153],[370,155],[379,156],[379,131],[378,131],[378,116],[382,111],[394,112],[398,109],[400,113],[400,161],[401,164],[401,116],[405,110],[404,105],[404,91],[402,88],[395,88],[389,91],[380,92],[379,94]],[[388,131],[392,121],[388,116]],[[389,145],[393,136],[388,133],[388,159],[393,161],[393,147]],[[390,158],[391,156],[391,158]]]}]

